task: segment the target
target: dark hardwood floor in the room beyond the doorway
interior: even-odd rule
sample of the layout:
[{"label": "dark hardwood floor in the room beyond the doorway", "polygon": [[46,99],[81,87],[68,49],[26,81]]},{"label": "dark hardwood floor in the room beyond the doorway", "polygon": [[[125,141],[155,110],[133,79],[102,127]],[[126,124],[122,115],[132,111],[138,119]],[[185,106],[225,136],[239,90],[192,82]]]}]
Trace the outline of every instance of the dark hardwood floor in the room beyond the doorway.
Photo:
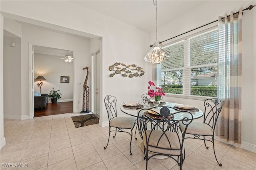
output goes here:
[{"label": "dark hardwood floor in the room beyond the doorway", "polygon": [[35,116],[48,116],[48,115],[58,115],[63,113],[73,113],[73,102],[58,102],[58,103],[48,103],[45,110],[42,108],[35,109]]}]

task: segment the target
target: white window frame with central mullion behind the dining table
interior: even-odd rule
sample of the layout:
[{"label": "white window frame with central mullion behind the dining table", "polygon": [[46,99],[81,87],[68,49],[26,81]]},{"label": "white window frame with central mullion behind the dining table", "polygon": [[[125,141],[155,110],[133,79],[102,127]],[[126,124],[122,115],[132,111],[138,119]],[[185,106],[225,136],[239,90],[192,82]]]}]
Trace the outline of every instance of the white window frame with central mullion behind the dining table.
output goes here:
[{"label": "white window frame with central mullion behind the dining table", "polygon": [[[195,37],[195,36],[199,36],[200,34],[207,34],[207,32],[211,32],[211,31],[214,31],[214,30],[217,30],[218,29],[218,25],[215,25],[215,26],[212,26],[210,28],[205,28],[204,30],[199,30],[197,32],[189,32],[189,33],[186,33],[185,35],[183,36],[178,36],[176,39],[172,40],[172,41],[169,41],[168,43],[164,43],[164,44],[161,44],[162,45],[162,48],[166,47],[166,46],[169,46],[171,44],[175,44],[175,43],[179,43],[181,41],[184,41],[184,44],[188,44],[186,43],[186,41],[188,41],[189,38],[192,38],[192,37]],[[185,46],[184,46],[185,48]],[[186,49],[189,49],[186,48]],[[187,51],[185,51],[186,53]],[[196,66],[190,66],[190,55],[184,55],[184,67],[182,67],[183,69],[183,74],[184,72],[188,75],[191,75],[191,69],[193,68],[198,68],[199,65],[196,65]],[[204,67],[204,66],[217,66],[218,67],[218,63],[214,63],[214,64],[205,64],[205,65],[200,65],[200,67]],[[161,79],[162,79],[162,75],[161,75],[161,64],[158,64],[156,66],[156,78],[159,82],[158,86],[161,85]],[[184,74],[185,75],[185,74]],[[182,90],[182,94],[173,94],[173,93],[166,93],[166,97],[177,97],[177,98],[184,98],[184,99],[197,99],[197,100],[205,100],[205,99],[209,99],[211,97],[209,96],[196,96],[196,95],[190,95],[191,93],[191,77],[183,77],[183,82],[184,79],[186,80],[186,82],[188,82],[187,84],[185,84],[183,90]],[[183,83],[184,85],[184,83]],[[217,85],[218,87],[218,85]],[[214,98],[214,97],[213,97]]]}]

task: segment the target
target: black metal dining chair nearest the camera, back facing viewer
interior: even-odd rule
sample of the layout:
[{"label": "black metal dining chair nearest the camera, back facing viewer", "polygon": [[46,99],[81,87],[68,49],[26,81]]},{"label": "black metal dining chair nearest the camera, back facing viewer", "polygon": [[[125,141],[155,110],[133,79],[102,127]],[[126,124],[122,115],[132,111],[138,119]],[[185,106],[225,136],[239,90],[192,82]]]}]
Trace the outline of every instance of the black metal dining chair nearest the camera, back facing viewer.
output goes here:
[{"label": "black metal dining chair nearest the camera, back facing viewer", "polygon": [[[192,122],[193,115],[188,111],[179,111],[173,107],[162,107],[160,113],[153,109],[142,109],[139,111],[139,121],[143,131],[144,160],[146,170],[148,160],[154,156],[168,156],[175,160],[180,169],[185,159],[185,148],[183,146],[185,133],[180,131],[178,123],[186,127]],[[172,110],[172,114],[170,113]],[[150,111],[150,113],[149,113]],[[186,113],[188,117],[174,120],[176,114]]]}]

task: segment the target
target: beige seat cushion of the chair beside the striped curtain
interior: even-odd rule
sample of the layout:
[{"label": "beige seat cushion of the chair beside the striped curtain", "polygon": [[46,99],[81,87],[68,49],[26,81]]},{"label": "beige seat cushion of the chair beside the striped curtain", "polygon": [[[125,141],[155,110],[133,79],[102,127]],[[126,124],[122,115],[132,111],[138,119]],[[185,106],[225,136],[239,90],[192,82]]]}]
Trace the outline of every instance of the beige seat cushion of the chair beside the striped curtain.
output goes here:
[{"label": "beige seat cushion of the chair beside the striped curtain", "polygon": [[[184,129],[186,128],[186,126],[183,123],[180,123],[180,127],[181,127],[182,131],[184,132]],[[204,136],[212,136],[213,129],[207,124],[197,123],[197,122],[192,121],[188,125],[186,133],[204,135]]]}]

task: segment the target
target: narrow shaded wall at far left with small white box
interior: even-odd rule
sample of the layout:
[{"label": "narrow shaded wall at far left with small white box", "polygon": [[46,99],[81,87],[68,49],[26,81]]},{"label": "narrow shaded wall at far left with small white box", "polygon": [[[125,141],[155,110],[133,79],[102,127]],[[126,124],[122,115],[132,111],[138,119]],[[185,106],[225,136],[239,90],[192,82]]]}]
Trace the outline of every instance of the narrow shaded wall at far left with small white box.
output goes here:
[{"label": "narrow shaded wall at far left with small white box", "polygon": [[[4,115],[9,119],[21,119],[21,40],[4,30]],[[15,43],[15,47],[11,43]],[[14,62],[15,61],[15,62]],[[15,106],[15,109],[14,109]],[[15,111],[16,110],[16,111]]]}]

